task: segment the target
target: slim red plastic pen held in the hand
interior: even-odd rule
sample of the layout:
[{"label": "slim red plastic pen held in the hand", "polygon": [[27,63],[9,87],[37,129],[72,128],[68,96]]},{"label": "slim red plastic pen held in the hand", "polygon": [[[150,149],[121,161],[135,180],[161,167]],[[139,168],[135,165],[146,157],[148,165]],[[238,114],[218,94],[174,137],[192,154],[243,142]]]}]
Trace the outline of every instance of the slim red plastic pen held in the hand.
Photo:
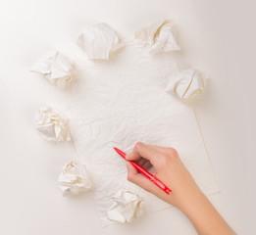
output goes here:
[{"label": "slim red plastic pen held in the hand", "polygon": [[[120,149],[114,147],[114,150],[116,150],[116,152],[123,157],[125,160],[127,155],[121,151]],[[133,164],[133,166],[140,171],[142,174],[144,174],[147,178],[149,178],[153,183],[155,183],[155,185],[157,185],[159,188],[161,188],[162,190],[164,190],[168,195],[170,193],[172,193],[172,190],[170,188],[168,188],[165,184],[163,184],[158,178],[156,178],[154,175],[152,175],[150,172],[148,172],[146,169],[144,169],[140,164],[137,164],[134,161],[128,161],[130,164]]]}]

